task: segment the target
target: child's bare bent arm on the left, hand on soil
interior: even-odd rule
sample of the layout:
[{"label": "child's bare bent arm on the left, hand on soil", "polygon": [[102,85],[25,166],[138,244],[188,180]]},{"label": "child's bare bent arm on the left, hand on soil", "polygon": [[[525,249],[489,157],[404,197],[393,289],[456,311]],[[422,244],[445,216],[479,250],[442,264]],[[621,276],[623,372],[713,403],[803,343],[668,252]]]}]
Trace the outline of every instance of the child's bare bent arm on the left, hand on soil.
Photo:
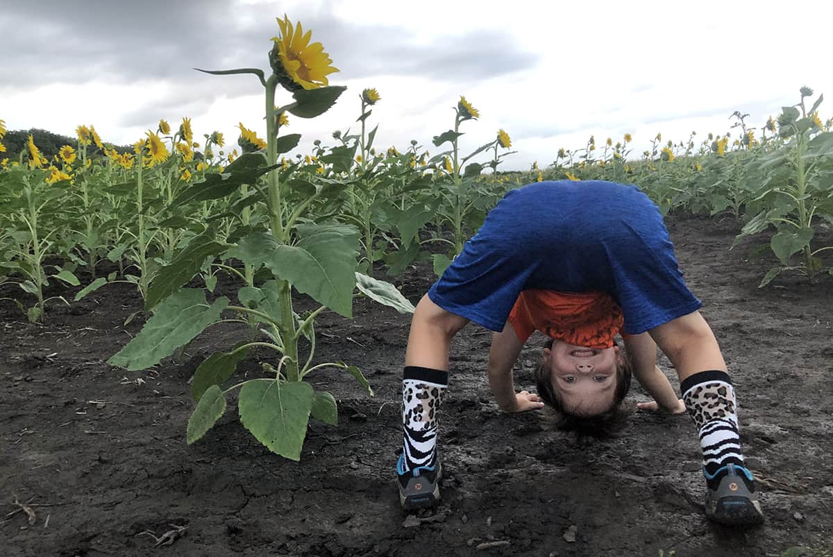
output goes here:
[{"label": "child's bare bent arm on the left, hand on soil", "polygon": [[526,390],[515,393],[515,382],[512,380],[512,366],[521,354],[523,342],[515,333],[510,323],[506,323],[503,331],[491,337],[489,350],[489,387],[495,395],[497,405],[506,412],[523,412],[541,408],[544,403]]}]

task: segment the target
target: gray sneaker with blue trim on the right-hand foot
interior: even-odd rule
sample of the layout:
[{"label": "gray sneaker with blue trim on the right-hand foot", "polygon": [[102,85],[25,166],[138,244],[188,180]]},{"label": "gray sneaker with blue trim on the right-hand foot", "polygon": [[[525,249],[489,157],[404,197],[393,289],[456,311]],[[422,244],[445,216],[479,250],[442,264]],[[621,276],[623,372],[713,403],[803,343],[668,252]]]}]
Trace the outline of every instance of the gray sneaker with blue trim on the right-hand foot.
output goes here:
[{"label": "gray sneaker with blue trim on the right-hand foot", "polygon": [[706,516],[724,525],[757,525],[764,521],[749,470],[726,465],[726,475],[717,488],[706,490]]}]

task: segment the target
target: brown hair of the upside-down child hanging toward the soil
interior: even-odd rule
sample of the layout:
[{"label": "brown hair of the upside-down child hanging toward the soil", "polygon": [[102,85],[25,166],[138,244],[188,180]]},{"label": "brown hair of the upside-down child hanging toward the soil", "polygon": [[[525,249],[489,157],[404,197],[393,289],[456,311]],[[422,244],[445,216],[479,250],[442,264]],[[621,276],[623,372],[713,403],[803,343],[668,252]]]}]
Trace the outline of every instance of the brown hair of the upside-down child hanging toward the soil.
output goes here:
[{"label": "brown hair of the upside-down child hanging toward the soil", "polygon": [[[552,339],[547,341],[544,347],[552,348]],[[629,414],[622,409],[621,404],[628,390],[631,390],[631,361],[627,354],[623,356],[621,360],[616,361],[616,390],[613,394],[613,405],[596,415],[577,415],[564,410],[556,389],[552,386],[551,370],[549,366],[544,365],[544,358],[541,356],[535,372],[535,380],[538,396],[546,403],[541,410],[544,422],[554,430],[575,432],[579,440],[583,437],[595,439],[615,437],[625,426]]]}]

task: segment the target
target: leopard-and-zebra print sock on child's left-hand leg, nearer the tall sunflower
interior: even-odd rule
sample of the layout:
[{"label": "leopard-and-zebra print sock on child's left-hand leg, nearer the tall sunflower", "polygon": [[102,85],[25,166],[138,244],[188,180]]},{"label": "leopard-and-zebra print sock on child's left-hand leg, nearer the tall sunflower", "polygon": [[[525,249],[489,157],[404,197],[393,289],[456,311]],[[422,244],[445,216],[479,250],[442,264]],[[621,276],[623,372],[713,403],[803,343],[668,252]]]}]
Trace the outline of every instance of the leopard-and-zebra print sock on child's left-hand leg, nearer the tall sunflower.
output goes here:
[{"label": "leopard-and-zebra print sock on child's left-hand leg, nearer the tall sunflower", "polygon": [[407,366],[402,374],[402,460],[400,472],[436,465],[436,430],[448,372]]}]

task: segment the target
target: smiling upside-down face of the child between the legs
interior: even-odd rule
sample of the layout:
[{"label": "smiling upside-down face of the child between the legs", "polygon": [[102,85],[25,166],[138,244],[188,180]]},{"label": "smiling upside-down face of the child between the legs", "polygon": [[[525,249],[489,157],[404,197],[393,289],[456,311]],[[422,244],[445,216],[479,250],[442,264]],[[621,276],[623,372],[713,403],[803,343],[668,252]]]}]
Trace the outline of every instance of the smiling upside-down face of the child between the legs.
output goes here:
[{"label": "smiling upside-down face of the child between the legs", "polygon": [[556,395],[564,410],[576,415],[611,408],[620,358],[618,346],[597,350],[553,341],[551,349],[544,349],[544,366],[550,368]]}]

